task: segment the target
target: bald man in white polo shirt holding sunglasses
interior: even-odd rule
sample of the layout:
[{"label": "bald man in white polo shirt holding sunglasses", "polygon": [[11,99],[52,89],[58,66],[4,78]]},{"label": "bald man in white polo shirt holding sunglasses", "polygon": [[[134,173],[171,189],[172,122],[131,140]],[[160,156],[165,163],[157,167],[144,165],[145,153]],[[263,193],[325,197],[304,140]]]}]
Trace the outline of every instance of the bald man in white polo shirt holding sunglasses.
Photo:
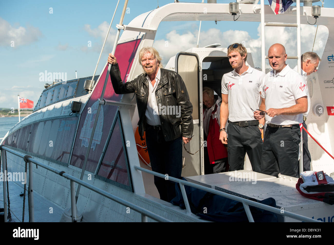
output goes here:
[{"label": "bald man in white polo shirt holding sunglasses", "polygon": [[[287,57],[282,44],[274,44],[268,51],[273,70],[266,74],[261,94],[267,122],[261,173],[298,178],[299,124],[307,112],[307,95],[305,80],[285,63]],[[257,111],[254,117],[262,119],[264,115]]]}]

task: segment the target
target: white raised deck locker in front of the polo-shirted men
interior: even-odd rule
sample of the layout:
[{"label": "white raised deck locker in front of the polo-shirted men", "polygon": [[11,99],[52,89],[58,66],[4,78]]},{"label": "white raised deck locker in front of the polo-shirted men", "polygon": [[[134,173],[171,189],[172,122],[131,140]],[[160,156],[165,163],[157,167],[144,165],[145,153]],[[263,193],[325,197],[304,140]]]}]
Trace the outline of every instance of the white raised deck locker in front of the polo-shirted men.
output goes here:
[{"label": "white raised deck locker in front of the polo-shirted men", "polygon": [[[245,178],[246,177],[246,178]],[[297,178],[281,175],[276,178],[249,170],[186,177],[190,182],[236,196],[264,200],[272,197],[282,210],[319,219],[334,220],[334,206],[302,196],[296,189]],[[330,220],[329,220],[330,219]],[[284,217],[284,221],[298,221]]]}]

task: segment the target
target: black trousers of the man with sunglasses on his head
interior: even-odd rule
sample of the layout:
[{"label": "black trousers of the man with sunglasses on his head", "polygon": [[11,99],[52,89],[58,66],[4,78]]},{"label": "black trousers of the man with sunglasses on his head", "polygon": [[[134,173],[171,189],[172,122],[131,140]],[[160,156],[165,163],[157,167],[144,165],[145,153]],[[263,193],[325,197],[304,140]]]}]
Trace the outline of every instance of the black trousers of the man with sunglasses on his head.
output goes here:
[{"label": "black trousers of the man with sunglasses on his head", "polygon": [[247,152],[253,171],[261,171],[262,137],[257,125],[239,127],[229,123],[227,126],[227,156],[229,171],[242,170]]}]

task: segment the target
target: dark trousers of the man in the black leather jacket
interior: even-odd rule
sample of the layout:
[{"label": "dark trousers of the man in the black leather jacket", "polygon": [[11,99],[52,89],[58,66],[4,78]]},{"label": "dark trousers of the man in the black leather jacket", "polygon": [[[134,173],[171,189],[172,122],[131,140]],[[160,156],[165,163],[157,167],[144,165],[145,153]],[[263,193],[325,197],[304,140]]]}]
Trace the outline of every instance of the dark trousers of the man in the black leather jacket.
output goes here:
[{"label": "dark trousers of the man in the black leather jacket", "polygon": [[182,172],[182,137],[165,141],[162,130],[153,128],[146,129],[145,135],[152,171],[168,174],[165,178],[154,176],[154,184],[160,199],[169,202],[176,192],[175,182],[168,180],[168,177],[178,178]]}]

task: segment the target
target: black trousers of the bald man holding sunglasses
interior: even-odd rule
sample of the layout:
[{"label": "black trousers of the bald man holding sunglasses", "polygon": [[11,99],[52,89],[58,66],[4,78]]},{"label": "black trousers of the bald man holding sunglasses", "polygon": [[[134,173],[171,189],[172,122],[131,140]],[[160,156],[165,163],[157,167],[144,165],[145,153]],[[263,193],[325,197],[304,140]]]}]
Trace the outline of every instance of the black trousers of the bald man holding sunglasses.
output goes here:
[{"label": "black trousers of the bald man holding sunglasses", "polygon": [[299,125],[267,126],[262,148],[261,173],[275,177],[281,173],[298,178],[299,143]]}]

